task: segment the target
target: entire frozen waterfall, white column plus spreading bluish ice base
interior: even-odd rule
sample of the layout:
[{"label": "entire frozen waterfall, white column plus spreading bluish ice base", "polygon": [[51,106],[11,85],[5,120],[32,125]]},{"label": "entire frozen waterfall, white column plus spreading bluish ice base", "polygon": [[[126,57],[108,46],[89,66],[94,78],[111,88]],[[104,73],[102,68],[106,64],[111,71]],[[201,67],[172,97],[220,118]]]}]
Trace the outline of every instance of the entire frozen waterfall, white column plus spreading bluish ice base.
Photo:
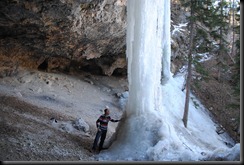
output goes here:
[{"label": "entire frozen waterfall, white column plus spreading bluish ice base", "polygon": [[[129,98],[116,140],[100,161],[199,161],[240,154],[226,146],[204,111],[189,105],[188,128],[182,122],[183,78],[170,72],[170,0],[127,0]],[[193,97],[193,96],[192,96]],[[201,103],[198,103],[201,105]]]}]

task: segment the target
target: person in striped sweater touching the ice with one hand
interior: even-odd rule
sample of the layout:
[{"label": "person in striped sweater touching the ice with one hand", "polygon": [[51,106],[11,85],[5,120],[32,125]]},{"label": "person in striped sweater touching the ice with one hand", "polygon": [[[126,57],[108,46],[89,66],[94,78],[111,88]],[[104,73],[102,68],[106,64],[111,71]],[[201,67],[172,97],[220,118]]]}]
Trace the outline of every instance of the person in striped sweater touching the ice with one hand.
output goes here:
[{"label": "person in striped sweater touching the ice with one hand", "polygon": [[97,143],[98,143],[100,137],[101,137],[101,139],[100,139],[100,143],[99,143],[99,151],[101,151],[103,149],[103,143],[106,138],[107,129],[108,129],[108,122],[109,121],[112,121],[112,122],[120,121],[120,120],[111,119],[109,114],[110,114],[109,109],[108,108],[104,109],[104,114],[101,115],[96,121],[98,130],[97,130],[97,134],[94,139],[93,147],[92,147],[92,150],[94,150],[94,151],[97,148]]}]

